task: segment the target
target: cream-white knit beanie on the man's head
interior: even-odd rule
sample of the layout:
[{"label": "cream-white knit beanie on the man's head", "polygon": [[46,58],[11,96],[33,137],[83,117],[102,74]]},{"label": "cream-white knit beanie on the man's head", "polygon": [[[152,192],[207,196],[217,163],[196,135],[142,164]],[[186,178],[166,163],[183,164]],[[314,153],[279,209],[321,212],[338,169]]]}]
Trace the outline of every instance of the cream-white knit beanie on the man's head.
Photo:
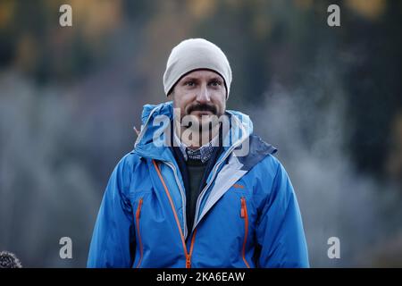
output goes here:
[{"label": "cream-white knit beanie on the man's head", "polygon": [[189,71],[207,69],[219,73],[226,86],[226,98],[229,97],[231,70],[226,55],[222,50],[204,38],[188,38],[173,47],[163,74],[163,87],[166,96],[178,80]]}]

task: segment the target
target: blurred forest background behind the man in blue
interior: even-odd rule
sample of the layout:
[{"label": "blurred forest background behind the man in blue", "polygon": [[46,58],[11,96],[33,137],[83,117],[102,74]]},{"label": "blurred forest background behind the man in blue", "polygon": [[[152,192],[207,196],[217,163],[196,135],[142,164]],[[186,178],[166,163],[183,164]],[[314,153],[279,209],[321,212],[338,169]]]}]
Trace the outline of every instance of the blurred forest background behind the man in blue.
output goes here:
[{"label": "blurred forest background behind the man in blue", "polygon": [[[402,1],[0,0],[0,251],[86,265],[142,106],[166,100],[172,47],[206,38],[230,60],[228,107],[279,148],[311,265],[402,266],[401,35]],[[327,257],[333,236],[340,259]]]}]

